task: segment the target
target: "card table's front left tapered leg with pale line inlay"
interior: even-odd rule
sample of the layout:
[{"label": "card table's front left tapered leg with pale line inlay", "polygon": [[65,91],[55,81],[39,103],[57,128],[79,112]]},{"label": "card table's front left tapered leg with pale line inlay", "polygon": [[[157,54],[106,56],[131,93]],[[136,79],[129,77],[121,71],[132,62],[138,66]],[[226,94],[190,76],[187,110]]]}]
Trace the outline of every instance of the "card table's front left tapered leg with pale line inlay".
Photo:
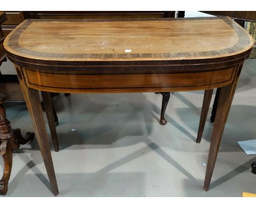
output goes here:
[{"label": "card table's front left tapered leg with pale line inlay", "polygon": [[33,121],[34,130],[36,133],[37,142],[44,160],[44,165],[46,172],[48,174],[51,188],[53,189],[53,194],[59,194],[59,190],[57,187],[56,176],[54,172],[53,160],[51,158],[50,145],[47,138],[44,117],[42,106],[39,99],[39,93],[37,90],[28,88],[24,81],[24,77],[22,77],[22,72],[20,66],[15,65],[17,73],[20,75],[19,82],[21,86],[22,93],[24,95],[28,112],[30,113],[31,119]]}]

